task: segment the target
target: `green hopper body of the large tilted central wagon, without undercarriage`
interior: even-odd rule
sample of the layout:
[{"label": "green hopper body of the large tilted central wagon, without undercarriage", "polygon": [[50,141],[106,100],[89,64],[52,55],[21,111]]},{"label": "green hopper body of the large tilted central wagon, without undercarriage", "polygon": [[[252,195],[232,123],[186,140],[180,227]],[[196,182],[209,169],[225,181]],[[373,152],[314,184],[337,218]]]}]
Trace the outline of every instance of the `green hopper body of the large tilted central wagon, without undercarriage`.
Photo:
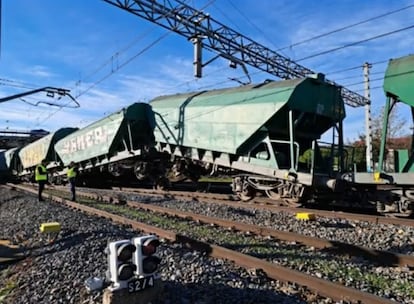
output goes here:
[{"label": "green hopper body of the large tilted central wagon, without undercarriage", "polygon": [[151,105],[156,141],[239,155],[266,135],[289,140],[289,110],[296,138],[307,141],[345,117],[338,87],[315,78],[162,96]]}]

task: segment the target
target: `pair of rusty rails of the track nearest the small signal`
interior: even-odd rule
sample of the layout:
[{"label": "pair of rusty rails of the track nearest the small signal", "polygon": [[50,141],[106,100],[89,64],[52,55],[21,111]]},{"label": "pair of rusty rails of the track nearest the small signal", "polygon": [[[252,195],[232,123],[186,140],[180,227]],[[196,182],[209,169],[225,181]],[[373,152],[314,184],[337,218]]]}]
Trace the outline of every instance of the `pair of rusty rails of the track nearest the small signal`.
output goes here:
[{"label": "pair of rusty rails of the track nearest the small signal", "polygon": [[[27,188],[23,188],[23,187],[19,187],[17,186],[17,188],[21,189],[21,190],[28,190]],[[30,190],[30,191],[35,191],[35,190]],[[110,197],[104,197],[104,196],[99,196],[96,194],[87,194],[88,197],[93,197],[94,199],[99,199],[99,200],[106,200],[108,202],[112,201],[112,203],[120,203],[123,204],[125,203],[124,201],[117,201],[114,200],[113,198]],[[263,269],[266,274],[273,279],[277,279],[277,280],[281,280],[281,281],[290,281],[290,282],[296,282],[300,285],[303,286],[307,286],[309,289],[318,292],[319,294],[335,299],[335,300],[344,300],[344,299],[352,299],[352,300],[356,300],[356,301],[360,301],[362,303],[388,303],[389,301],[385,298],[380,298],[377,296],[374,296],[372,294],[368,294],[365,292],[361,292],[358,290],[355,290],[353,288],[348,288],[345,287],[341,284],[336,284],[336,283],[332,283],[326,280],[322,280],[320,278],[316,278],[316,277],[312,277],[306,274],[303,274],[301,272],[295,271],[295,270],[291,270],[285,267],[281,267],[278,265],[275,265],[274,263],[269,263],[266,262],[262,259],[258,259],[252,256],[247,256],[244,254],[241,254],[240,252],[236,252],[233,250],[229,250],[228,248],[224,248],[221,246],[217,246],[214,244],[209,244],[206,242],[201,242],[201,241],[197,241],[195,239],[191,239],[188,236],[184,236],[181,234],[177,234],[168,230],[164,230],[164,229],[160,229],[158,227],[153,227],[153,226],[149,226],[147,224],[143,224],[143,223],[138,223],[137,221],[125,218],[124,216],[121,215],[114,215],[111,212],[107,212],[107,211],[103,211],[103,210],[98,210],[96,208],[90,207],[90,206],[85,206],[82,204],[77,204],[77,203],[73,203],[73,202],[68,202],[65,201],[64,199],[62,199],[61,197],[58,196],[52,196],[50,195],[50,197],[56,201],[62,202],[67,204],[70,207],[82,210],[82,211],[86,211],[92,214],[96,214],[99,216],[103,216],[103,217],[107,217],[107,218],[111,218],[112,220],[115,220],[119,223],[122,224],[126,224],[126,225],[131,225],[133,228],[135,229],[140,229],[140,230],[144,230],[147,232],[152,232],[152,233],[156,233],[161,237],[164,237],[166,239],[172,240],[172,241],[178,241],[178,242],[184,242],[189,246],[192,246],[193,248],[197,248],[199,250],[203,250],[206,252],[209,252],[213,257],[218,257],[218,258],[226,258],[229,260],[234,261],[235,263],[243,266],[243,267],[248,267],[248,268],[261,268]],[[148,206],[147,204],[143,205],[143,204],[137,204],[136,202],[126,202],[127,205],[130,205],[134,208],[139,207],[139,208],[145,208],[146,210],[148,210],[150,208],[150,206]],[[156,207],[156,206],[155,206]],[[152,206],[151,206],[152,208]],[[163,212],[163,213],[168,213],[170,212],[170,215],[172,214],[172,212],[174,211],[168,211],[165,210],[165,208],[160,209],[160,207],[153,209],[153,211],[156,212]],[[174,216],[177,216],[177,214],[173,214]],[[180,215],[183,218],[188,218],[190,216],[193,216],[193,220],[196,221],[202,221],[202,222],[208,222],[208,223],[214,223],[216,225],[222,225],[225,227],[229,227],[232,229],[237,229],[237,230],[242,230],[245,229],[246,231],[250,231],[250,232],[254,232],[257,233],[259,235],[266,235],[266,236],[273,236],[273,237],[277,237],[279,239],[285,239],[285,240],[292,240],[292,238],[297,238],[297,235],[294,234],[286,234],[286,233],[276,233],[275,231],[270,231],[270,230],[266,230],[263,228],[255,228],[252,226],[246,226],[244,225],[235,225],[234,222],[229,222],[229,221],[223,221],[223,220],[212,220],[212,219],[207,219],[206,217],[202,217],[202,216],[195,216],[195,215],[190,215],[190,214],[185,214],[185,213],[181,213]],[[194,218],[195,216],[195,218]],[[236,227],[237,226],[237,227]],[[319,246],[319,247],[329,247],[329,246],[339,246],[339,244],[333,244],[332,242],[324,242],[323,240],[316,240],[316,239],[310,239],[310,238],[304,238],[303,243],[307,243],[307,244],[313,244],[313,245],[309,245],[309,246]],[[342,245],[341,245],[342,246]],[[345,245],[344,245],[345,246]],[[319,248],[318,247],[318,248]],[[346,248],[347,250],[350,249],[351,247],[342,247],[342,248]],[[378,256],[382,256],[382,262],[388,261],[388,263],[390,263],[390,261],[392,261],[391,264],[400,264],[400,263],[412,263],[411,258],[412,257],[403,257],[403,256],[398,256],[395,254],[391,254],[391,255],[384,255],[384,254],[379,254],[378,251],[370,251],[367,250],[366,248],[360,248],[359,250],[361,250],[361,252],[365,252],[365,253],[369,253],[368,256],[372,256],[372,257],[378,257]],[[380,260],[381,260],[380,259]],[[404,262],[403,262],[404,261]],[[392,303],[392,302],[390,302]]]}]

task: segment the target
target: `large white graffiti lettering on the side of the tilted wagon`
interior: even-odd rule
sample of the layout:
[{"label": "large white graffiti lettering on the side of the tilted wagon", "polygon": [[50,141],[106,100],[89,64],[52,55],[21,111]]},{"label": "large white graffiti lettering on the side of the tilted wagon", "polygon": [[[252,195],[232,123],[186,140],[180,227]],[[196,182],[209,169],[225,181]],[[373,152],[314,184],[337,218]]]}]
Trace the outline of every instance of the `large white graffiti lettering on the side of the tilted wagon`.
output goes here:
[{"label": "large white graffiti lettering on the side of the tilted wagon", "polygon": [[63,153],[73,153],[108,142],[106,128],[98,127],[84,134],[73,137],[63,144]]}]

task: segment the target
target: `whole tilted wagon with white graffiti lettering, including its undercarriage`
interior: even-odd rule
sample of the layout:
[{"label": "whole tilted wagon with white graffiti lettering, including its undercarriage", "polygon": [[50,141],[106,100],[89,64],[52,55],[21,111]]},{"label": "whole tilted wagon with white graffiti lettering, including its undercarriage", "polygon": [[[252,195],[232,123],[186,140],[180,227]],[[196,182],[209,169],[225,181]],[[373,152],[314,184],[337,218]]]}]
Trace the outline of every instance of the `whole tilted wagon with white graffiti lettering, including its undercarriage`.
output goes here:
[{"label": "whole tilted wagon with white graffiti lettering, including its undercarriage", "polygon": [[151,164],[154,125],[151,106],[134,103],[63,138],[56,151],[65,166],[77,163],[84,177],[103,172],[121,177],[137,168],[143,178],[143,167]]}]

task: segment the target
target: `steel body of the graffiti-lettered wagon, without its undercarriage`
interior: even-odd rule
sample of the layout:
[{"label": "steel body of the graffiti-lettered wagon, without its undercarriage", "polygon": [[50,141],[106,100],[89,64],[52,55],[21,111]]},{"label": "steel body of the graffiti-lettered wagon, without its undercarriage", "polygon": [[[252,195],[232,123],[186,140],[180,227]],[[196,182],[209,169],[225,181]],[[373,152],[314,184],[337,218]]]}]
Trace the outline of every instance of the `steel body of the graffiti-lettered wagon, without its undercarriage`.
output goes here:
[{"label": "steel body of the graffiti-lettered wagon, without its undercarriage", "polygon": [[153,142],[153,115],[148,104],[134,103],[63,138],[56,144],[56,152],[67,166],[71,161],[109,158],[120,150],[135,150]]}]

